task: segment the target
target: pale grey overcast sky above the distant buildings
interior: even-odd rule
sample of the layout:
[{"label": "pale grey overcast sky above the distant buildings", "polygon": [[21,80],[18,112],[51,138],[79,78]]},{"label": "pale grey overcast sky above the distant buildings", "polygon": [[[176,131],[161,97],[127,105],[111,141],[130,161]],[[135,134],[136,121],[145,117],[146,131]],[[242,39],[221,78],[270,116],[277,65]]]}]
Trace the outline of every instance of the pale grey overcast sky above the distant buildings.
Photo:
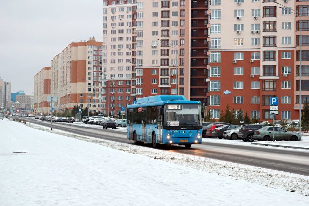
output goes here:
[{"label": "pale grey overcast sky above the distant buildings", "polygon": [[1,0],[0,77],[32,95],[36,73],[92,36],[102,41],[102,0]]}]

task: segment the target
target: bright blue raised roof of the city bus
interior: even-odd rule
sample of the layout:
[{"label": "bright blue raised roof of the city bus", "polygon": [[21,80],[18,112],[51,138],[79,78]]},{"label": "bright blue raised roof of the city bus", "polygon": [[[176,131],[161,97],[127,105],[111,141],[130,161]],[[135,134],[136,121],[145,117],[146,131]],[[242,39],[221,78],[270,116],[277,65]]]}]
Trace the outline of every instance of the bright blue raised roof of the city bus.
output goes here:
[{"label": "bright blue raised roof of the city bus", "polygon": [[136,104],[128,105],[129,108],[145,107],[145,106],[159,106],[167,103],[181,103],[181,104],[201,104],[200,101],[189,101],[182,95],[155,95],[140,98]]}]

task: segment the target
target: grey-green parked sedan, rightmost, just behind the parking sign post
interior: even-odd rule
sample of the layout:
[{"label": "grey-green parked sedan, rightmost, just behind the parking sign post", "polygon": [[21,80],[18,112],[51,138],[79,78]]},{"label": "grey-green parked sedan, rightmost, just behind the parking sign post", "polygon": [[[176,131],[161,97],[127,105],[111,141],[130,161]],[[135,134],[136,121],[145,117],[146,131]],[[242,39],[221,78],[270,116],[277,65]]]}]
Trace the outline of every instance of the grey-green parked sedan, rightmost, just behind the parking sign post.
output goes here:
[{"label": "grey-green parked sedan, rightmost, just behind the parking sign post", "polygon": [[296,141],[302,138],[298,133],[287,131],[280,127],[274,128],[273,126],[265,126],[254,131],[253,139],[257,139],[258,141],[270,141],[273,140],[273,136],[275,136],[276,141]]}]

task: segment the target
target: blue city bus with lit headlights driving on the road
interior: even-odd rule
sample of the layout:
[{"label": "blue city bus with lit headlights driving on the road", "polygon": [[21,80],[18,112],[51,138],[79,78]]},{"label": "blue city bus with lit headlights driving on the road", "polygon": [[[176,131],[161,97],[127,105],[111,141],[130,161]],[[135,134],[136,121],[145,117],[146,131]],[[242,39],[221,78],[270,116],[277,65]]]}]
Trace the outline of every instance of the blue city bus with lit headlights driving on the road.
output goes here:
[{"label": "blue city bus with lit headlights driving on the road", "polygon": [[202,143],[201,102],[181,95],[140,98],[127,107],[127,139],[134,144],[184,145]]}]

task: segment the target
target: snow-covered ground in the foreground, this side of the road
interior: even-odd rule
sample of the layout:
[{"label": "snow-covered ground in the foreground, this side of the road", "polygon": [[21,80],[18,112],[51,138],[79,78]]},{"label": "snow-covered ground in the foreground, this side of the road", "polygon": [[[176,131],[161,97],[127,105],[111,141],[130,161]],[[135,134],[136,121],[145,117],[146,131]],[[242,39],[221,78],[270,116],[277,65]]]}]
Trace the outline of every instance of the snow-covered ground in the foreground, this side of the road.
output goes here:
[{"label": "snow-covered ground in the foreground, this side of the road", "polygon": [[308,176],[8,120],[0,131],[0,206],[309,205]]}]

